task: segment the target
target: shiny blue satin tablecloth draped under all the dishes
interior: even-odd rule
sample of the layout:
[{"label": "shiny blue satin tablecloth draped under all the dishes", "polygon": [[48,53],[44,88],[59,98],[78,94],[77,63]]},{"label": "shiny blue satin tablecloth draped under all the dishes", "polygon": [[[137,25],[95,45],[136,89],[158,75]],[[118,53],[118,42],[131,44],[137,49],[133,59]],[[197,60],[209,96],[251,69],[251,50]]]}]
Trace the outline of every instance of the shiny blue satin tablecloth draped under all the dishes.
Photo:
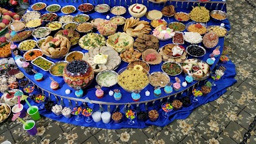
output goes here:
[{"label": "shiny blue satin tablecloth draped under all the dishes", "polygon": [[[96,0],[95,0],[96,1]],[[33,3],[36,3],[36,2],[41,2],[41,1],[31,1],[31,4]],[[47,5],[50,5],[50,4],[54,4],[56,3],[56,1],[42,1],[44,3],[46,3]],[[65,6],[65,5],[68,5],[68,4],[72,4],[76,7],[79,6],[79,4],[82,3],[82,1],[79,1],[79,3],[74,3],[74,1],[65,1],[65,2],[62,2],[62,1],[58,1],[62,6]],[[84,3],[86,3],[86,1],[83,1]],[[93,1],[90,0],[89,1],[90,3],[93,4]],[[119,5],[120,1],[116,1],[116,5]],[[122,0],[122,5],[124,6],[124,1]],[[140,1],[141,2],[141,1]],[[140,3],[139,2],[139,3]],[[100,1],[100,3],[102,3],[102,1]],[[105,1],[105,3],[108,3],[108,1]],[[136,1],[132,1],[132,3],[136,3]],[[114,6],[114,1],[111,1],[111,7]],[[127,1],[127,4],[130,4],[130,1]],[[144,1],[144,4],[147,5],[147,1]],[[168,2],[168,4],[175,4],[175,2],[173,3],[170,3]],[[189,13],[192,9],[192,5],[193,3],[189,3],[189,6],[188,8],[186,8],[186,5],[184,4],[183,5],[183,8],[180,8],[181,7],[181,4],[182,3],[178,3],[177,4],[177,7],[178,8],[175,8],[176,12],[187,12]],[[94,4],[95,5],[95,4]],[[201,4],[201,5],[204,5],[204,4]],[[206,4],[205,6],[207,8],[210,7],[211,4]],[[125,6],[127,8],[127,6]],[[221,5],[218,6],[218,8],[221,7]],[[149,3],[149,6],[148,6],[148,10],[161,10],[163,8],[163,4],[153,4],[153,3]],[[214,6],[212,6],[212,8],[215,8]],[[31,8],[29,8],[29,10],[31,10]],[[223,6],[223,10],[225,11],[225,6]],[[40,11],[40,13],[47,13],[45,10],[42,10]],[[72,13],[72,15],[77,15],[77,14],[80,14],[81,12],[78,12],[76,11],[75,13]],[[57,12],[58,16],[62,16],[63,13],[61,12]],[[106,19],[106,15],[100,15],[99,13],[97,12],[94,12],[94,13],[90,13],[88,14],[90,15],[90,19],[95,19],[95,18],[103,18],[103,19]],[[108,15],[110,17],[113,17],[114,15],[112,15],[111,13],[108,13]],[[131,15],[129,15],[129,13],[125,13],[125,15],[123,15],[124,17],[128,18],[128,17],[131,17]],[[173,17],[163,17],[163,19],[165,19],[167,22],[173,22],[173,21],[176,21]],[[141,20],[147,20],[145,17],[141,18]],[[230,24],[228,22],[228,20],[223,20],[222,21],[223,23],[225,23],[225,28],[226,29],[230,29]],[[186,22],[188,23],[188,22]],[[185,24],[186,24],[185,23]],[[212,25],[220,25],[221,22],[215,22],[213,21],[212,19],[207,22],[207,26],[212,26]],[[122,31],[122,26],[118,27],[118,31]],[[97,33],[97,31],[95,30],[94,32]],[[54,34],[51,34],[51,35],[54,35]],[[83,35],[81,35],[83,36]],[[170,44],[172,43],[172,40],[169,40],[169,41],[166,41],[166,42],[159,42],[160,44],[160,47],[162,47],[163,45],[166,45],[166,44]],[[220,51],[223,51],[223,44],[224,44],[224,38],[221,37],[219,39],[219,44],[221,46],[220,48]],[[183,46],[184,47],[187,47],[189,44],[184,44]],[[202,45],[202,44],[200,44]],[[209,54],[211,54],[211,52],[214,50],[213,49],[207,49],[207,53],[205,54],[205,56],[201,57],[200,59],[201,60],[204,60],[206,61],[207,58],[209,58]],[[84,49],[81,49],[79,47],[79,45],[76,45],[74,48],[70,49],[70,51],[82,51],[82,52],[88,52]],[[45,57],[47,58],[47,57]],[[192,57],[188,57],[188,58],[192,58]],[[47,58],[48,60],[51,60],[50,58]],[[218,62],[218,60],[220,59],[220,56],[218,58],[216,58],[216,62],[214,63],[214,65],[211,66],[211,68],[214,68],[216,66],[216,63]],[[56,62],[56,61],[60,61],[60,60],[51,60],[53,62]],[[121,68],[123,67],[126,67],[128,63],[125,63],[124,61],[122,61],[122,63],[120,64],[120,66],[117,68],[117,70],[115,70],[116,72],[118,72],[118,70],[120,70]],[[49,74],[49,72],[44,72],[44,70],[41,70],[40,68],[37,68],[37,67],[34,67],[35,70],[37,72],[40,72],[44,75],[44,81],[41,81],[41,82],[36,82],[35,79],[33,78],[33,76],[29,76],[28,74],[26,74],[26,72],[24,72],[24,69],[20,68],[20,70],[22,72],[24,72],[24,74],[26,75],[26,77],[28,77],[31,81],[33,81],[33,83],[36,83],[36,85],[38,85],[40,88],[44,88],[45,90],[51,92],[51,93],[54,93],[56,95],[62,95],[62,96],[66,96],[66,97],[76,97],[76,95],[74,95],[74,90],[72,90],[72,93],[70,93],[69,95],[66,95],[65,94],[65,90],[66,89],[72,89],[70,87],[67,86],[67,84],[65,84],[65,82],[63,81],[63,78],[62,77],[54,77],[54,76],[51,76],[51,74]],[[183,119],[183,118],[186,118],[192,111],[193,109],[195,109],[196,107],[200,106],[201,104],[205,104],[207,102],[210,102],[212,100],[215,100],[217,99],[218,97],[220,97],[221,94],[225,93],[225,88],[227,88],[228,86],[231,86],[232,84],[236,83],[236,80],[234,79],[234,76],[236,75],[236,70],[235,70],[235,66],[234,66],[234,63],[232,63],[231,61],[229,61],[227,63],[227,68],[228,70],[226,71],[226,74],[225,76],[223,76],[221,78],[220,81],[217,81],[216,84],[217,86],[215,86],[214,88],[212,88],[212,92],[209,93],[208,95],[204,96],[204,97],[199,97],[198,98],[198,103],[195,105],[191,105],[189,106],[188,108],[182,108],[178,111],[172,111],[170,113],[170,115],[168,115],[168,118],[163,118],[163,116],[161,116],[161,112],[162,110],[160,109],[159,107],[159,101],[156,101],[156,103],[154,104],[154,106],[152,106],[152,102],[148,103],[148,109],[159,109],[159,113],[160,113],[160,116],[159,116],[159,119],[156,121],[156,122],[150,122],[150,120],[147,120],[145,122],[143,121],[137,121],[135,125],[128,125],[127,124],[127,120],[124,119],[120,124],[114,124],[113,121],[111,121],[109,124],[103,124],[102,122],[98,122],[98,123],[95,123],[95,122],[92,122],[90,124],[87,124],[86,122],[84,122],[84,120],[80,120],[80,121],[76,121],[74,120],[74,116],[72,116],[72,118],[65,118],[64,116],[55,116],[53,113],[49,112],[49,111],[45,111],[45,110],[42,110],[40,111],[40,114],[41,115],[44,115],[44,116],[47,116],[49,118],[52,118],[54,120],[58,120],[60,122],[65,122],[65,123],[69,123],[69,124],[75,124],[75,125],[84,125],[84,126],[90,126],[90,127],[101,127],[101,128],[106,128],[106,129],[121,129],[121,128],[124,128],[124,127],[134,127],[134,128],[143,128],[143,127],[147,127],[148,125],[157,125],[157,126],[164,126],[164,125],[167,125],[167,124],[170,124],[170,122],[172,122],[173,120],[175,119]],[[161,71],[161,64],[160,65],[150,65],[150,73],[151,72],[156,72],[156,71]],[[51,79],[49,79],[49,76],[51,77],[54,77],[54,80],[57,81],[59,84],[60,84],[60,90],[56,90],[56,91],[52,91],[51,88],[50,88],[50,83],[51,83]],[[181,80],[181,82],[184,81],[184,77],[185,75],[182,73],[178,76]],[[170,76],[170,79],[171,79],[171,82],[175,82],[175,77],[173,76]],[[188,86],[186,88],[188,88],[189,86],[191,86],[192,84],[195,84],[196,81],[194,81],[193,83],[191,84],[188,84]],[[95,82],[95,80],[93,81],[93,83],[84,90],[84,96],[81,98],[81,99],[84,99],[85,97],[88,97],[90,100],[100,100],[102,102],[115,102],[115,103],[127,103],[129,104],[130,102],[133,102],[132,98],[131,98],[131,93],[128,93],[128,92],[125,92],[122,88],[120,88],[120,86],[118,86],[118,84],[116,84],[115,86],[112,86],[111,88],[103,88],[102,90],[104,90],[105,94],[104,94],[104,97],[102,99],[97,99],[97,97],[95,96],[95,84],[97,84]],[[116,101],[113,97],[110,97],[108,95],[108,92],[109,90],[114,90],[114,89],[120,89],[121,90],[121,93],[122,93],[122,99],[119,100],[119,101]],[[186,88],[180,88],[180,91],[183,91],[183,90],[186,90]],[[146,97],[145,96],[145,91],[150,91],[150,96],[149,97]],[[153,100],[155,99],[154,97],[154,87],[151,86],[150,84],[144,89],[141,91],[141,99],[140,101],[145,101],[145,100]],[[34,92],[36,93],[36,92]],[[40,90],[38,90],[38,93],[40,93]],[[175,93],[175,92],[173,92]],[[171,93],[171,94],[173,94]],[[47,95],[47,92],[45,92],[45,94]],[[180,99],[180,97],[183,97],[184,95],[187,95],[186,92],[183,93],[183,95],[178,95],[177,99]],[[163,92],[163,89],[162,89],[162,95],[161,97],[164,97],[164,96],[167,96],[166,93]],[[55,100],[55,97],[52,95],[51,96],[51,99],[52,100]],[[174,99],[174,97],[171,97],[171,101]],[[176,99],[176,98],[175,98]],[[33,100],[29,100],[29,102],[31,102],[32,105],[36,105],[36,103],[33,101]],[[68,100],[67,99],[64,99],[63,102],[65,103],[65,106],[68,106]],[[73,101],[73,106],[75,105],[75,102]],[[78,102],[79,105],[83,105],[81,102]],[[91,106],[93,108],[94,111],[97,111],[99,109],[99,104],[88,104],[88,106]],[[104,110],[106,111],[108,108],[107,108],[107,105],[102,105],[102,107],[104,108]],[[113,112],[115,110],[115,105],[111,106],[110,107],[110,111]],[[121,111],[122,111],[122,108],[124,108],[124,106],[119,106]],[[25,108],[28,108],[27,105],[25,105]],[[136,106],[134,105],[131,105],[131,108],[134,108],[136,109]],[[140,104],[140,109],[143,110],[145,109],[145,104]]]}]

